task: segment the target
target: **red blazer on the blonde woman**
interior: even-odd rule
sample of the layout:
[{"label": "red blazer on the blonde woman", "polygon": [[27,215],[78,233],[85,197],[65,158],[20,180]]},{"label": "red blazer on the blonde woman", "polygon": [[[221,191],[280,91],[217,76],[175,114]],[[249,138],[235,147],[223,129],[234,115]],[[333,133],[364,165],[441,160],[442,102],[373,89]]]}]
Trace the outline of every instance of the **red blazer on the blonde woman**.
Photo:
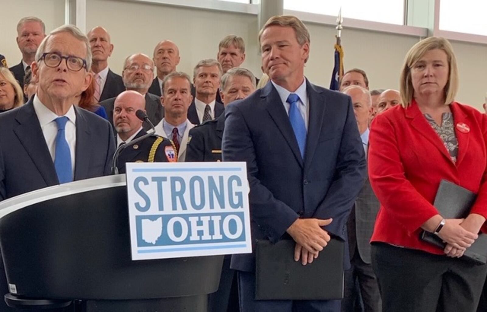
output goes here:
[{"label": "red blazer on the blonde woman", "polygon": [[[477,193],[470,212],[487,218],[487,116],[456,102],[450,109],[458,140],[456,164],[415,101],[406,109],[398,105],[375,117],[368,169],[381,206],[371,241],[443,254],[418,237],[420,226],[438,214],[432,202],[442,179]],[[461,123],[468,132],[456,127]],[[486,224],[482,230],[486,232]]]}]

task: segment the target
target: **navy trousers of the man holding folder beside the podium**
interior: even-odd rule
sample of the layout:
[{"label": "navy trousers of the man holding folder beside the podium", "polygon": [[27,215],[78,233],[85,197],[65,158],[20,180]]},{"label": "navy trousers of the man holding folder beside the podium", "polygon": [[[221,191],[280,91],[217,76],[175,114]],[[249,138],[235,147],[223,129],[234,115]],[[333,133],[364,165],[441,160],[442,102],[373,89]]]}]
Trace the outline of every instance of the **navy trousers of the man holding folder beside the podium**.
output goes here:
[{"label": "navy trousers of the man holding folder beside the podium", "polygon": [[341,300],[255,300],[255,273],[238,272],[241,312],[339,312]]}]

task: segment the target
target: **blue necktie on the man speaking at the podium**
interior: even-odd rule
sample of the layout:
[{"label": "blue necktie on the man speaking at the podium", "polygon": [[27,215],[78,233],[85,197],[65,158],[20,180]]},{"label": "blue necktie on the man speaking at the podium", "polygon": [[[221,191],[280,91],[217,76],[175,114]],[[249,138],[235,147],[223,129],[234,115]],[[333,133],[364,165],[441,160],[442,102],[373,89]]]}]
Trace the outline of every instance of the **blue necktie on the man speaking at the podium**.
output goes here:
[{"label": "blue necktie on the man speaking at the podium", "polygon": [[65,128],[68,117],[56,118],[57,135],[56,135],[56,150],[54,154],[54,167],[56,168],[57,179],[59,183],[67,183],[73,181],[73,173],[71,169],[71,152],[69,150],[68,142],[66,141]]}]

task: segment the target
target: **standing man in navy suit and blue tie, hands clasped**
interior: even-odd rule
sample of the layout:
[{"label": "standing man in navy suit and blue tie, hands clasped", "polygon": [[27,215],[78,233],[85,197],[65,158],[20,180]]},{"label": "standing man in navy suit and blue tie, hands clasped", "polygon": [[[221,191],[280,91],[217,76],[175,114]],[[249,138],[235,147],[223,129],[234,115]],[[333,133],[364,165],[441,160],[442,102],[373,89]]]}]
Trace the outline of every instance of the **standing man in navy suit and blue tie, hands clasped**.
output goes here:
[{"label": "standing man in navy suit and blue tie, hands clasped", "polygon": [[[259,41],[271,81],[227,107],[223,160],[247,163],[252,239],[292,238],[294,259],[306,265],[330,235],[346,241],[366,174],[364,149],[350,97],[304,77],[310,51],[304,24],[272,17]],[[231,268],[239,271],[242,312],[340,311],[339,300],[255,300],[255,253],[234,255]]]}]

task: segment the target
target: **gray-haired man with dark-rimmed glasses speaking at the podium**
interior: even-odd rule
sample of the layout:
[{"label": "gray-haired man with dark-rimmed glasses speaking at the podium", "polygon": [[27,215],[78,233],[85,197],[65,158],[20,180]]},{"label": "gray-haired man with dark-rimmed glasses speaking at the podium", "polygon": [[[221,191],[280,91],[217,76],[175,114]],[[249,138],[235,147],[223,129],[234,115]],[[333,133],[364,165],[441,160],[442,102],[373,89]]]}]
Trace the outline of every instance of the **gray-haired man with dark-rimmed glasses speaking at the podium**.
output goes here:
[{"label": "gray-haired man with dark-rimmed glasses speaking at the podium", "polygon": [[[39,188],[108,175],[115,149],[110,124],[76,108],[93,74],[90,43],[75,26],[53,30],[32,63],[36,94],[0,114],[0,201]],[[3,265],[0,296],[8,293]],[[0,300],[0,311],[8,309]]]}]

